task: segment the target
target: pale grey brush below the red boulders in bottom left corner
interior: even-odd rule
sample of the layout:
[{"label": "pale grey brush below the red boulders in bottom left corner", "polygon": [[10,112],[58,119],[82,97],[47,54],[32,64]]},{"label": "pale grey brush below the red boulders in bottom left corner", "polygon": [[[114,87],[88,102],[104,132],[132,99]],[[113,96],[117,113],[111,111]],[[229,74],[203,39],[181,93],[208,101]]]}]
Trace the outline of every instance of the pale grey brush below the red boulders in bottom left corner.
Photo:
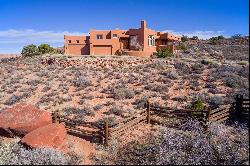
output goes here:
[{"label": "pale grey brush below the red boulders in bottom left corner", "polygon": [[26,149],[17,141],[0,142],[0,165],[68,165],[79,164],[76,155],[67,155],[52,148]]}]

